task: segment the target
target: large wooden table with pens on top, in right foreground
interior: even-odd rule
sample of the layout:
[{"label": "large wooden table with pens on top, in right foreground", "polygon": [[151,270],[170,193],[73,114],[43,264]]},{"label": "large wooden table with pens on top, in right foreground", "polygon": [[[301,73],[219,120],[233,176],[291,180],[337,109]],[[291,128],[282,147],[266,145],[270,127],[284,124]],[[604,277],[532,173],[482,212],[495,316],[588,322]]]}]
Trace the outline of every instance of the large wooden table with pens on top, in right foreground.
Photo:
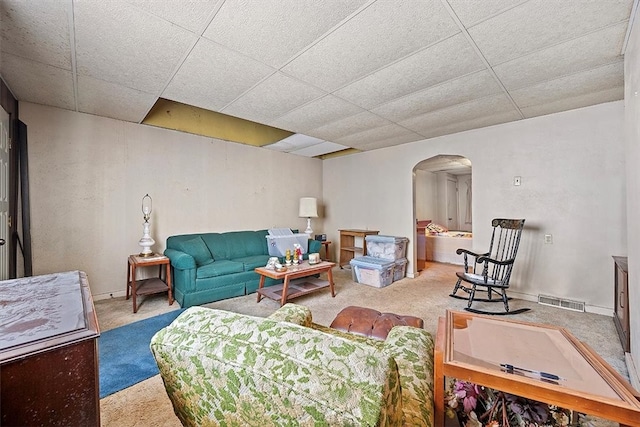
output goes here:
[{"label": "large wooden table with pens on top, in right foreground", "polygon": [[[507,372],[500,364],[521,371]],[[528,370],[528,371],[527,371]],[[523,373],[527,371],[526,375]],[[531,372],[553,375],[542,379]],[[637,426],[638,393],[608,363],[564,328],[447,310],[434,352],[436,426],[444,425],[444,378]],[[547,377],[549,378],[549,377]]]}]

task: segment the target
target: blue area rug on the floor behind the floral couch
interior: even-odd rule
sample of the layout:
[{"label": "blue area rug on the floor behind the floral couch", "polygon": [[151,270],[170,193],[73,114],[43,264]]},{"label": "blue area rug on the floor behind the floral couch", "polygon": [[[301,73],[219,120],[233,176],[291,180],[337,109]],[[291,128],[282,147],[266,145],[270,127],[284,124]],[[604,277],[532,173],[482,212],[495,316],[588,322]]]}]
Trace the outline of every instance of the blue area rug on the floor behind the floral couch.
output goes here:
[{"label": "blue area rug on the floor behind the floral couch", "polygon": [[151,337],[183,311],[170,311],[100,335],[100,399],[160,373],[149,350]]}]

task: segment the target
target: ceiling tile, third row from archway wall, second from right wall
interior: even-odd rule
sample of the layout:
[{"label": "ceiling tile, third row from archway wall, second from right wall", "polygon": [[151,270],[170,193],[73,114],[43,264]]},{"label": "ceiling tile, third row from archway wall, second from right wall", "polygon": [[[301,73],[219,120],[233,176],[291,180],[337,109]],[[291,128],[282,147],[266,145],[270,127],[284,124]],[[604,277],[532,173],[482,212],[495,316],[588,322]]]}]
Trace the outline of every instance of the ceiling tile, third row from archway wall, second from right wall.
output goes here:
[{"label": "ceiling tile, third row from archway wall, second from right wall", "polygon": [[398,122],[501,92],[493,76],[488,71],[480,71],[405,96],[374,108],[372,112]]}]

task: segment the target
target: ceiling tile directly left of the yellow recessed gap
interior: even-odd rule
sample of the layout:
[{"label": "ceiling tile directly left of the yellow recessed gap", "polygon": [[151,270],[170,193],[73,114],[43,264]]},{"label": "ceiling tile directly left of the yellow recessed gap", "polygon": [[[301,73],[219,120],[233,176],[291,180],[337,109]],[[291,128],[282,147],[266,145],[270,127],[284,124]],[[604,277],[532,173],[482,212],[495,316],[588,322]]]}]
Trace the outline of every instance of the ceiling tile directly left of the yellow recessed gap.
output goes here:
[{"label": "ceiling tile directly left of the yellow recessed gap", "polygon": [[78,76],[78,111],[140,123],[156,96],[91,77]]}]

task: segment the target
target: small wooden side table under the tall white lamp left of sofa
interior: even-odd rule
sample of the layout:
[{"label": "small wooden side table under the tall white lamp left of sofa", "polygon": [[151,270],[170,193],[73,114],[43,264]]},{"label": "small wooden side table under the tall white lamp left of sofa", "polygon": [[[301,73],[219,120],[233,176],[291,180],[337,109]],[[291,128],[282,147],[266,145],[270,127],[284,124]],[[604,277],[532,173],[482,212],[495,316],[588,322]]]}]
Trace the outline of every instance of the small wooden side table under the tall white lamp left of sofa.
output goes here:
[{"label": "small wooden side table under the tall white lamp left of sofa", "polygon": [[[136,269],[140,267],[158,266],[158,277],[136,280]],[[164,266],[164,280],[162,270]],[[160,292],[169,292],[169,305],[173,304],[173,294],[171,292],[171,263],[164,255],[154,255],[151,257],[141,257],[140,255],[129,255],[127,261],[127,298],[131,295],[133,299],[133,312],[138,312],[136,297],[138,295],[152,295]]]}]

